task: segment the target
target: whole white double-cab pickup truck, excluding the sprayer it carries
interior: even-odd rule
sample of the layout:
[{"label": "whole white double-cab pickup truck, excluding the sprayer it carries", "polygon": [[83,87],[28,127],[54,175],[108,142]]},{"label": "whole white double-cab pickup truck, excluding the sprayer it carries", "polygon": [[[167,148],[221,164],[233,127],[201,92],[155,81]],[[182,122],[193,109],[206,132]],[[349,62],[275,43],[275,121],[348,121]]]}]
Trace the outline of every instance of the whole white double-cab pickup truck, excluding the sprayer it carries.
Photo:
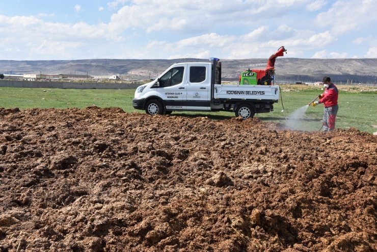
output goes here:
[{"label": "whole white double-cab pickup truck, excluding the sprayer it carries", "polygon": [[243,119],[274,110],[279,86],[221,84],[221,62],[186,62],[170,66],[154,81],[139,86],[135,109],[149,115],[173,111],[230,111]]}]

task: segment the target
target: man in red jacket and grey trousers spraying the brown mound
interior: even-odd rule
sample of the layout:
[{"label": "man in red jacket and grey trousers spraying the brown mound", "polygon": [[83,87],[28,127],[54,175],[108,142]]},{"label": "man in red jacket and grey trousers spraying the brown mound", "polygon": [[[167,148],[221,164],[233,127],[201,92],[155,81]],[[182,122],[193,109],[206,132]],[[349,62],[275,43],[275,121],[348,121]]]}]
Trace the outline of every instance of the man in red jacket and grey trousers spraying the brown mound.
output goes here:
[{"label": "man in red jacket and grey trousers spraying the brown mound", "polygon": [[315,107],[320,103],[325,106],[324,118],[322,124],[324,131],[333,131],[335,129],[335,118],[338,113],[338,88],[331,83],[330,77],[324,77],[322,80],[325,92],[318,95],[318,102],[312,102],[311,106]]}]

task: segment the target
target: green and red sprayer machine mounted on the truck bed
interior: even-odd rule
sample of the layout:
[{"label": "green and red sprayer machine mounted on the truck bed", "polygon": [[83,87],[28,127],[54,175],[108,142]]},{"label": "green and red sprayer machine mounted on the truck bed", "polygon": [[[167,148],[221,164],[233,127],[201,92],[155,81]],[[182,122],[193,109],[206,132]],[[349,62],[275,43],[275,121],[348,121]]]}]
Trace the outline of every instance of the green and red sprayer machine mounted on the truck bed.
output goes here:
[{"label": "green and red sprayer machine mounted on the truck bed", "polygon": [[281,46],[278,51],[268,58],[267,66],[264,70],[252,69],[241,72],[239,75],[240,85],[274,85],[275,79],[275,60],[277,57],[284,56],[287,50]]}]

